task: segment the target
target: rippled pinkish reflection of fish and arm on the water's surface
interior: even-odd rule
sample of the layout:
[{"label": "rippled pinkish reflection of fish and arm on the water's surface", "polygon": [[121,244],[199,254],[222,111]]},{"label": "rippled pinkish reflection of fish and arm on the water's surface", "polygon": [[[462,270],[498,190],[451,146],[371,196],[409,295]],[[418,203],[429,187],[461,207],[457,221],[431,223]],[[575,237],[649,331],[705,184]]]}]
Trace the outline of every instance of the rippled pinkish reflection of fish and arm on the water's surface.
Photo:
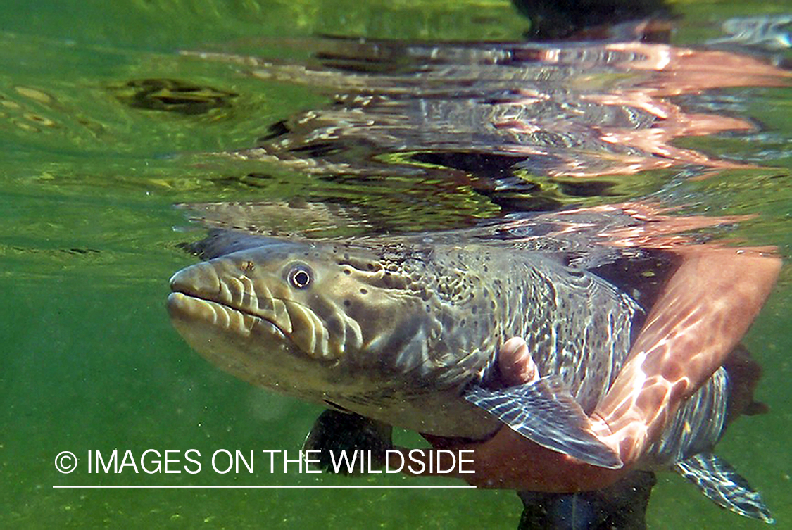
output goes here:
[{"label": "rippled pinkish reflection of fish and arm on the water's surface", "polygon": [[[504,194],[525,190],[515,173],[531,181],[537,174],[745,168],[672,140],[754,132],[755,124],[734,116],[729,97],[707,91],[788,86],[792,78],[750,55],[638,42],[318,46],[321,59],[307,65],[193,54],[238,63],[255,77],[334,91],[334,105],[273,125],[257,147],[234,156],[328,176],[474,177],[475,189],[485,188],[475,177],[489,177],[502,181]],[[379,153],[390,154],[389,162]],[[395,153],[405,154],[399,163],[390,162]]]}]

